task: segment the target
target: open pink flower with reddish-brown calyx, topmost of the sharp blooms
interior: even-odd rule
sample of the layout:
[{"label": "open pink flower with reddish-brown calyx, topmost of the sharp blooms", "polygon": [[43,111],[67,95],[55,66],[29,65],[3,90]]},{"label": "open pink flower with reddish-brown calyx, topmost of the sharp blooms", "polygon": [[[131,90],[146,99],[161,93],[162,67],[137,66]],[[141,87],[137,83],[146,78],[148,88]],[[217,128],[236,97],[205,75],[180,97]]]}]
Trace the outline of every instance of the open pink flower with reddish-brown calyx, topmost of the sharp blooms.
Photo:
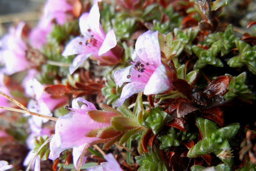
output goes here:
[{"label": "open pink flower with reddish-brown calyx, topmost of the sharp blooms", "polygon": [[91,59],[98,60],[100,65],[113,65],[119,61],[119,57],[110,51],[116,46],[116,35],[113,29],[107,34],[102,30],[96,0],[90,13],[84,13],[79,18],[79,27],[82,36],[72,39],[62,53],[63,56],[78,54],[69,67],[70,74],[90,56]]}]

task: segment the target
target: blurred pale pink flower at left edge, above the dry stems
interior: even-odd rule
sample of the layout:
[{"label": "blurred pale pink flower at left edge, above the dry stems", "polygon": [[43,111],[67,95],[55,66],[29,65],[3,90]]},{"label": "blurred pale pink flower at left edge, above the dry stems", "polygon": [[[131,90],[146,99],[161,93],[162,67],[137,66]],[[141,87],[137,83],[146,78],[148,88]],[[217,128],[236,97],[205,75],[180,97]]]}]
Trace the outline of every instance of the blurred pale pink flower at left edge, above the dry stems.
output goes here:
[{"label": "blurred pale pink flower at left edge, above the dry stems", "polygon": [[16,29],[11,27],[9,33],[0,40],[0,62],[4,64],[2,72],[11,75],[32,66],[26,59],[27,45],[21,38],[25,23],[20,22]]}]

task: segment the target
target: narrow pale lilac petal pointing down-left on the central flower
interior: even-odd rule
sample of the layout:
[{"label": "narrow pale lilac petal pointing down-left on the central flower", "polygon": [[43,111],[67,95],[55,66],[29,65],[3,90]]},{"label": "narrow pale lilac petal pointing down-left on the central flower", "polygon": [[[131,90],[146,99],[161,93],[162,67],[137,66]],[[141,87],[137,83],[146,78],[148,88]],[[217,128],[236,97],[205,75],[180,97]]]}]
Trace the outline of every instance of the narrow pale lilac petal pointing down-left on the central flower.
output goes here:
[{"label": "narrow pale lilac petal pointing down-left on the central flower", "polygon": [[143,92],[145,85],[146,83],[143,82],[131,82],[124,85],[120,99],[116,101],[115,107],[122,105],[124,100],[133,94]]}]

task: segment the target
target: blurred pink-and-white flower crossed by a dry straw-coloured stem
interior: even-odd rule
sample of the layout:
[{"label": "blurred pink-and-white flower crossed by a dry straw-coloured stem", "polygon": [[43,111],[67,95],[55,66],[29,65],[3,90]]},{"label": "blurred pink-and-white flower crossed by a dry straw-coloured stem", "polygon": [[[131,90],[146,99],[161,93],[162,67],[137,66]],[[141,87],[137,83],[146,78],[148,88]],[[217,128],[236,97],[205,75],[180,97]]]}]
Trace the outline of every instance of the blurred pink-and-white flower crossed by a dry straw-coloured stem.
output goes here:
[{"label": "blurred pink-and-white flower crossed by a dry straw-coloured stem", "polygon": [[[27,82],[25,91],[30,97],[33,97],[33,99],[29,100],[28,102],[28,110],[43,115],[52,116],[51,111],[59,104],[64,104],[67,101],[66,97],[52,99],[50,94],[44,92],[44,85],[39,83],[35,78]],[[34,119],[35,123],[40,127],[42,123],[48,121],[48,119],[34,115],[32,116],[32,118]]]}]

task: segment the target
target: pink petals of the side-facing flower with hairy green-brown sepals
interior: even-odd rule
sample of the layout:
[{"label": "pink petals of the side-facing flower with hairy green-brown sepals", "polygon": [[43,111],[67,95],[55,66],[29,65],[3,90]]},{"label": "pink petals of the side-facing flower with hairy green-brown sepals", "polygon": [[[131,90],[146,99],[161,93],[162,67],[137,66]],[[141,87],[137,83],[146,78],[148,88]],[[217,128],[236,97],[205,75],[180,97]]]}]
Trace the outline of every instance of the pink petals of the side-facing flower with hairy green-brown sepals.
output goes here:
[{"label": "pink petals of the side-facing flower with hairy green-brown sepals", "polygon": [[[86,105],[79,107],[78,102],[83,102]],[[60,156],[60,153],[69,148],[73,148],[73,162],[75,167],[84,149],[90,145],[97,144],[108,139],[100,139],[97,137],[86,137],[90,130],[102,129],[111,126],[110,121],[107,123],[99,123],[92,120],[87,114],[90,110],[96,110],[95,106],[83,98],[76,98],[72,101],[74,112],[60,116],[55,124],[55,135],[50,142],[49,159],[55,160]],[[116,115],[113,113],[113,115]],[[84,158],[83,163],[85,162]]]}]

